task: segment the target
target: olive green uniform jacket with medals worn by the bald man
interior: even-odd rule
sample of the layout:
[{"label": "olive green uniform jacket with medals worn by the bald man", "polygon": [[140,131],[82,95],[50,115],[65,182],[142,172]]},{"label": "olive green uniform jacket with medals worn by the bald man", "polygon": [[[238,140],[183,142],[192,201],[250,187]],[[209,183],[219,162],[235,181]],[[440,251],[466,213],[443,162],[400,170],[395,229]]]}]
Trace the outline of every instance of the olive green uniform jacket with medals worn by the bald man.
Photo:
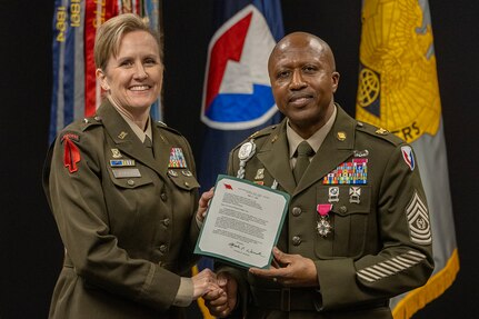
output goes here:
[{"label": "olive green uniform jacket with medals worn by the bald man", "polygon": [[[333,127],[299,185],[290,168],[286,120],[247,140],[256,152],[245,178],[268,187],[276,180],[291,196],[278,248],[312,259],[319,288],[287,288],[224,266],[219,271],[230,271],[242,288],[240,317],[392,318],[389,298],[425,285],[432,272],[429,213],[411,149],[337,107]],[[231,176],[239,170],[240,147],[230,153]],[[355,163],[361,166],[355,173],[362,185],[348,173]],[[332,232],[322,237],[317,206],[329,203]]]}]

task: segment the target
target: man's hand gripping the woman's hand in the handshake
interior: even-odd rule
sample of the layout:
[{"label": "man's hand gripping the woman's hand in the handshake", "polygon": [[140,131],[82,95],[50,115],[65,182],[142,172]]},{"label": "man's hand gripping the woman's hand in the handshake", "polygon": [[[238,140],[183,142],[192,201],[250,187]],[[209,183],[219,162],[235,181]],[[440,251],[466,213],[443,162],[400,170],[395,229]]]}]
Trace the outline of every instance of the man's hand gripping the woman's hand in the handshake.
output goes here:
[{"label": "man's hand gripping the woman's hand in the handshake", "polygon": [[211,290],[203,296],[204,305],[214,317],[224,318],[231,311],[238,301],[238,283],[233,277],[227,272],[217,275],[219,289]]}]

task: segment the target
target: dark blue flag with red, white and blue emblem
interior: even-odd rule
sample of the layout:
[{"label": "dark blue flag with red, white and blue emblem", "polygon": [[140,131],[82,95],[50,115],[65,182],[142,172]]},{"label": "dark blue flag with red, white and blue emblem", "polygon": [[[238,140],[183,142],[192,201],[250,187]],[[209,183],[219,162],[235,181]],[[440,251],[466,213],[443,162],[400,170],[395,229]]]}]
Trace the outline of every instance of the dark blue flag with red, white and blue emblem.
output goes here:
[{"label": "dark blue flag with red, white and blue emblem", "polygon": [[283,34],[279,0],[220,0],[208,48],[201,121],[208,126],[200,183],[208,190],[226,172],[228,153],[255,131],[280,121],[268,57]]}]

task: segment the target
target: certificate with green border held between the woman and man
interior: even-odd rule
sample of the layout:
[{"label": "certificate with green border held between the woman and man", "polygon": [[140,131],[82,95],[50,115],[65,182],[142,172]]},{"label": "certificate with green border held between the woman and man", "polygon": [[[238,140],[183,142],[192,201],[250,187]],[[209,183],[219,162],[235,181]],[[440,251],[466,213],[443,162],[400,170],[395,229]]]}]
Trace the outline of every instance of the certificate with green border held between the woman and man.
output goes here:
[{"label": "certificate with green border held between the woman and man", "polygon": [[218,176],[194,253],[250,268],[268,268],[289,195],[230,176]]}]

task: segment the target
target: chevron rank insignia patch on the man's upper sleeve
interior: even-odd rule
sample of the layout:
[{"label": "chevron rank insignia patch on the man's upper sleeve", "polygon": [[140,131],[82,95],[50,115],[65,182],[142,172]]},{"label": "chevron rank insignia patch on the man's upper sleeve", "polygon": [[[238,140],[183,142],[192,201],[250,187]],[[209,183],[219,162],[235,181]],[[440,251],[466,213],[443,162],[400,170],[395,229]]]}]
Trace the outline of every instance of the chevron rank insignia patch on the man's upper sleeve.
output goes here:
[{"label": "chevron rank insignia patch on the man's upper sleeve", "polygon": [[406,207],[406,216],[411,241],[418,245],[431,245],[432,236],[428,208],[418,196],[418,192],[415,192],[411,201]]}]

